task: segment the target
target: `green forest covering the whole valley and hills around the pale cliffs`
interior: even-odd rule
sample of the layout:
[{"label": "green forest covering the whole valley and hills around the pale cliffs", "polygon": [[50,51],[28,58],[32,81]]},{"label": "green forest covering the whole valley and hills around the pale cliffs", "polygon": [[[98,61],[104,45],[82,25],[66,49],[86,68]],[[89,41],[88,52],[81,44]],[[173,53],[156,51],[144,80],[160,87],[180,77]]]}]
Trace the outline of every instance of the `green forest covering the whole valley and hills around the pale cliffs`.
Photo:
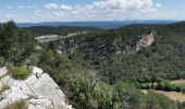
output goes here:
[{"label": "green forest covering the whole valley and hills around the pale cliffs", "polygon": [[[88,34],[39,44],[35,36],[88,31]],[[155,43],[136,53],[124,49],[139,35],[156,31]],[[155,90],[185,93],[173,80],[185,78],[185,23],[132,25],[118,29],[0,26],[0,65],[44,69],[76,109],[184,109]],[[61,51],[61,52],[59,52]],[[148,89],[145,94],[141,89]]]}]

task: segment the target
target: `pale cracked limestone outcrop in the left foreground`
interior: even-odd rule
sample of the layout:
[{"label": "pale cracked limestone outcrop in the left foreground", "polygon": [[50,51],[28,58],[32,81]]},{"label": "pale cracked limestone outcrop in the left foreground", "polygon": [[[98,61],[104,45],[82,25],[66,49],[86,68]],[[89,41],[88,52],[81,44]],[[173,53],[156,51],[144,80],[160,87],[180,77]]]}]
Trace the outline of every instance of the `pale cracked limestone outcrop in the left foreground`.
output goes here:
[{"label": "pale cracked limestone outcrop in the left foreground", "polygon": [[[9,88],[2,90],[4,85]],[[0,68],[0,109],[18,100],[24,100],[27,109],[72,108],[53,80],[36,66],[25,81],[13,80],[7,68]]]}]

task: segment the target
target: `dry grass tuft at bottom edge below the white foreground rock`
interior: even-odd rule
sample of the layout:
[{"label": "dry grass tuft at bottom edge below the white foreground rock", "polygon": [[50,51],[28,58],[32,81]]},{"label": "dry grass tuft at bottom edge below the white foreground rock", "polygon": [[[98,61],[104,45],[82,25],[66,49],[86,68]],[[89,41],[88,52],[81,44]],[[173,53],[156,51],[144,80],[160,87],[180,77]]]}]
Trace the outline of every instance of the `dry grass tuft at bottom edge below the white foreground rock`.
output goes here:
[{"label": "dry grass tuft at bottom edge below the white foreground rock", "polygon": [[4,109],[27,109],[27,105],[24,100],[20,100],[8,105]]}]

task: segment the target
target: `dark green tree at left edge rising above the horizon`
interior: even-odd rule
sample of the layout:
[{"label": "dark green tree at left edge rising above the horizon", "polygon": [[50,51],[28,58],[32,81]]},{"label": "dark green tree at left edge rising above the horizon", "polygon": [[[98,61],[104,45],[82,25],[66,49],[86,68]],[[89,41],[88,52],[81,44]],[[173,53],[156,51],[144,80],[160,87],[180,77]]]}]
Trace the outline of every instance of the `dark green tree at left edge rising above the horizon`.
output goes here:
[{"label": "dark green tree at left edge rising above the horizon", "polygon": [[13,21],[0,24],[0,56],[7,61],[22,61],[32,52],[34,45],[34,37],[26,35]]}]

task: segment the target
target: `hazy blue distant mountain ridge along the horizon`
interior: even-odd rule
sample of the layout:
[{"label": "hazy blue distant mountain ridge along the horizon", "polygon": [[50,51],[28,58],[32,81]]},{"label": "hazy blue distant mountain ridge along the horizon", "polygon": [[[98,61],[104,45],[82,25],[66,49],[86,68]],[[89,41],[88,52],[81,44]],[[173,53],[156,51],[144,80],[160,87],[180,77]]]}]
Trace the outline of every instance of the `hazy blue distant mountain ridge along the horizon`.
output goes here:
[{"label": "hazy blue distant mountain ridge along the horizon", "polygon": [[132,24],[172,24],[175,21],[168,20],[131,20],[131,21],[91,21],[91,22],[40,22],[40,23],[17,23],[18,27],[32,26],[86,26],[103,29],[119,28]]}]

